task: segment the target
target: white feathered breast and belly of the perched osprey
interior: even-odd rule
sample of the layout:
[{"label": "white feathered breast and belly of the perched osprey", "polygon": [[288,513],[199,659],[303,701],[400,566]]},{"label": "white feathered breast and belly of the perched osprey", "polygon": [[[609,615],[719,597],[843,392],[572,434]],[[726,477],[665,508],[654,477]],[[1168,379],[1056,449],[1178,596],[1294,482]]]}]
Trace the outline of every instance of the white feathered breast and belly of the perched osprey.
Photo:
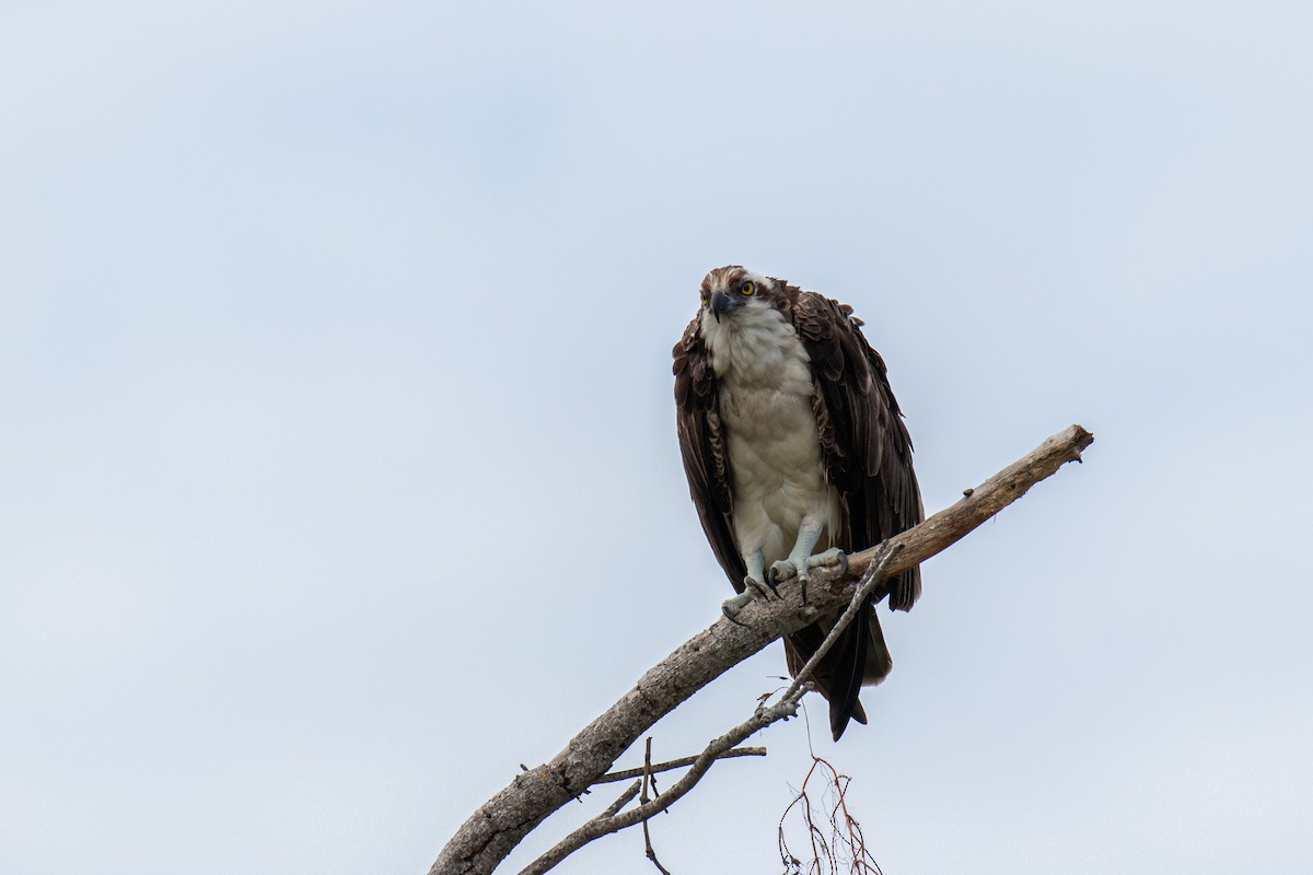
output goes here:
[{"label": "white feathered breast and belly of the perched osprey", "polygon": [[811,412],[807,353],[780,311],[759,300],[720,323],[704,317],[701,332],[721,383],[734,537],[741,554],[760,550],[769,567],[789,555],[805,516],[818,516],[827,533],[839,525]]}]

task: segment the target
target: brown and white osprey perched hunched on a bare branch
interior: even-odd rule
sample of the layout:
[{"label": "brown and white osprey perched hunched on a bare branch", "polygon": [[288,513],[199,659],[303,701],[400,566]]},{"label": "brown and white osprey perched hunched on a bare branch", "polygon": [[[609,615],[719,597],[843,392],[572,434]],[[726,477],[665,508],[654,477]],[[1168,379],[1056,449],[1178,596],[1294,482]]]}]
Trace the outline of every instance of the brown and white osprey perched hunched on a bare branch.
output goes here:
[{"label": "brown and white osprey perched hunched on a bare branch", "polygon": [[[846,563],[923,518],[911,438],[885,362],[852,307],[741,265],[717,268],[702,306],[675,345],[679,449],[702,531],[738,596],[734,615],[771,598],[776,581]],[[920,569],[889,584],[889,606],[910,610]],[[893,668],[874,600],[819,662],[835,741],[865,723],[864,685]],[[789,673],[806,664],[838,611],[785,636]]]}]

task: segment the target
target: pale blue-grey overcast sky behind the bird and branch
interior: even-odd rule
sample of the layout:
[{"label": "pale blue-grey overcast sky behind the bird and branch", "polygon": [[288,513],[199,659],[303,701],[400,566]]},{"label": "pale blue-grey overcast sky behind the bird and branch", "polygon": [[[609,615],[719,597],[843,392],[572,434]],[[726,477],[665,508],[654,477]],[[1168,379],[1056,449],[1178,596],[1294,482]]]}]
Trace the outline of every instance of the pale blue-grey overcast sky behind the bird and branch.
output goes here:
[{"label": "pale blue-grey overcast sky behind the bird and branch", "polygon": [[[1310,29],[0,4],[0,870],[427,871],[730,592],[670,376],[729,262],[856,307],[928,510],[1096,436],[927,563],[871,725],[810,703],[886,875],[1313,868]],[[806,727],[762,741],[668,868],[779,871]]]}]

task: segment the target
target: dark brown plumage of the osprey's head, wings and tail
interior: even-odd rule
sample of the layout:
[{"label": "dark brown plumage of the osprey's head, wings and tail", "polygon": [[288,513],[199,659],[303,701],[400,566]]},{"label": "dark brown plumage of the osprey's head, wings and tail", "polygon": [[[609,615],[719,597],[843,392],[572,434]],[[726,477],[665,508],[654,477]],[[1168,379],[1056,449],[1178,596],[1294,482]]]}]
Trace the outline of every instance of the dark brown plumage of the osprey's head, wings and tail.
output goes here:
[{"label": "dark brown plumage of the osprey's head, wings and tail", "polygon": [[[704,302],[714,283],[733,283],[739,274],[750,275],[737,265],[708,274]],[[842,525],[829,543],[844,552],[872,547],[923,518],[911,438],[885,363],[863,336],[863,323],[852,316],[852,307],[767,279],[759,296],[792,323],[810,359],[811,409],[825,475],[840,496]],[[720,412],[720,382],[699,328],[700,320],[709,317],[704,306],[674,349],[679,442],[702,530],[734,589],[742,592],[746,563],[734,535],[734,480]],[[909,610],[919,594],[919,569],[889,584],[889,603],[895,610]],[[853,623],[815,673],[818,687],[830,699],[836,739],[850,718],[865,723],[857,701],[863,682],[878,682],[892,668],[874,605],[867,610],[869,621]],[[815,652],[832,619],[822,618],[785,639],[790,673]]]}]

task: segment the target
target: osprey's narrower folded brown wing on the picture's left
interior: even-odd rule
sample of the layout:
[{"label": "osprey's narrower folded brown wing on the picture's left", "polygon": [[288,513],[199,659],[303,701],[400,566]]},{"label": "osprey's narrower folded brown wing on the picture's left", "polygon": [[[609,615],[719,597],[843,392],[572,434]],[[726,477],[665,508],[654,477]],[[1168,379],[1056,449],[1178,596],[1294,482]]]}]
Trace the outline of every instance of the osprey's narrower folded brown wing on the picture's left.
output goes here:
[{"label": "osprey's narrower folded brown wing on the picture's left", "polygon": [[679,451],[684,457],[688,492],[693,496],[702,531],[716,559],[737,592],[743,592],[747,568],[734,543],[730,525],[730,460],[718,411],[718,382],[706,345],[697,333],[697,319],[684,329],[675,356],[675,411]]}]

